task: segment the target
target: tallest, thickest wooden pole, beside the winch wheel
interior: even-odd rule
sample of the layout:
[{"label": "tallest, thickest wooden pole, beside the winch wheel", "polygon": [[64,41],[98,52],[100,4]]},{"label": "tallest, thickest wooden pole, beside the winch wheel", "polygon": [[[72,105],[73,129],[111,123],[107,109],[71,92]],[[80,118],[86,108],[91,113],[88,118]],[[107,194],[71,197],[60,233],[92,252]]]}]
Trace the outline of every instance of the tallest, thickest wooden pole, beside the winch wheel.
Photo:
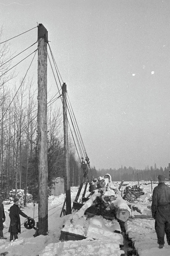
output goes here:
[{"label": "tallest, thickest wooden pole, beside the winch wheel", "polygon": [[47,43],[48,31],[38,26],[38,235],[48,232],[47,163]]}]

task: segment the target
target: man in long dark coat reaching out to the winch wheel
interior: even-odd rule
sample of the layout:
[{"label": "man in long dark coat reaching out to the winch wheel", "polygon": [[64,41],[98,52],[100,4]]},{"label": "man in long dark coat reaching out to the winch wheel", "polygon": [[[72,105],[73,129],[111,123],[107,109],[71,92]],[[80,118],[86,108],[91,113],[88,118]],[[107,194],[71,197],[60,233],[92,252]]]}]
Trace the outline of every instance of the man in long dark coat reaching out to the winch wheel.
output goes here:
[{"label": "man in long dark coat reaching out to the winch wheel", "polygon": [[[18,206],[19,199],[14,199],[14,204],[10,207],[10,227],[8,232],[10,232],[10,241],[18,239],[18,233],[21,233],[21,223],[19,214],[27,219],[30,219],[24,212],[22,212]],[[13,239],[14,237],[14,239]]]}]

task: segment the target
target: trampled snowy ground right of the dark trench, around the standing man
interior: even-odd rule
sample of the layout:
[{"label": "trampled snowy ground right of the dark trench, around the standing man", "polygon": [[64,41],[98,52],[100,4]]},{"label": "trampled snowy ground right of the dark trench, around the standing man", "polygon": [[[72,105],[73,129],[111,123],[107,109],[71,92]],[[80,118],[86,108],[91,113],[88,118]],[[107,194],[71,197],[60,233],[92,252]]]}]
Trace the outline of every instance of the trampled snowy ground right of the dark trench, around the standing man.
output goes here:
[{"label": "trampled snowy ground right of the dark trench, around the standing man", "polygon": [[[166,182],[169,184],[169,182]],[[152,184],[152,188],[158,184]],[[143,215],[152,215],[151,207],[149,201],[149,196],[151,194],[151,184],[142,185],[145,194],[140,197],[141,201],[137,204],[140,206]],[[134,212],[136,215],[140,215],[138,212]],[[134,242],[134,246],[137,249],[139,256],[169,256],[170,246],[167,244],[165,236],[165,247],[163,249],[158,248],[157,236],[155,232],[155,221],[154,219],[129,219],[125,222],[126,233],[128,233],[129,238]]]}]

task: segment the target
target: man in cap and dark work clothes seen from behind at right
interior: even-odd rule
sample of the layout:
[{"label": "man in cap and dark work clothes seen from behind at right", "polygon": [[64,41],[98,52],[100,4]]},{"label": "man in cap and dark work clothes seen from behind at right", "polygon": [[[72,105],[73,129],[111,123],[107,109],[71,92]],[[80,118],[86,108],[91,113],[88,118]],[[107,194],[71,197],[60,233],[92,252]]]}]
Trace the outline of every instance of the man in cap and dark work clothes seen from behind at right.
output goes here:
[{"label": "man in cap and dark work clothes seen from behind at right", "polygon": [[165,175],[158,175],[159,184],[153,189],[151,207],[160,249],[164,247],[165,234],[170,245],[170,188],[166,186],[165,178]]}]

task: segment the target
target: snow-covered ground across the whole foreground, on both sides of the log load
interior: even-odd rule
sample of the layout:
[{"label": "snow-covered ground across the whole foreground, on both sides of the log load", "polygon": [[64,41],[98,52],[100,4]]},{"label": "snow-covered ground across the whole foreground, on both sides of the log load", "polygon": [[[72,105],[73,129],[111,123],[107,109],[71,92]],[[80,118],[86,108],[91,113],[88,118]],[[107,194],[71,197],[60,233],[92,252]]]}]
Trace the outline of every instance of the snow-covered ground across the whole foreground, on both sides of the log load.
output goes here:
[{"label": "snow-covered ground across the whole foreground, on both sides of the log load", "polygon": [[[129,185],[132,183],[129,183]],[[117,184],[115,184],[116,186]],[[157,184],[153,184],[153,188]],[[151,202],[149,196],[151,194],[151,185],[142,185],[145,194],[140,197],[140,201],[136,204],[139,205],[142,210],[142,214],[151,215],[150,207]],[[125,187],[123,187],[125,188]],[[71,199],[74,201],[77,194],[77,187],[71,188]],[[121,192],[119,192],[120,194]],[[70,215],[62,216],[60,218],[61,209],[64,202],[64,195],[48,198],[48,236],[37,236],[34,229],[27,230],[24,228],[24,218],[21,219],[21,234],[18,234],[18,241],[9,242],[10,233],[8,228],[10,224],[10,218],[8,215],[8,209],[13,204],[4,205],[6,212],[6,221],[4,228],[4,236],[7,240],[0,240],[0,255],[7,256],[120,256],[123,251],[119,250],[118,243],[122,243],[122,235],[112,233],[110,239],[102,237],[100,234],[96,236],[96,240],[92,240],[90,237],[81,241],[59,241],[61,229],[63,223],[70,217]],[[22,210],[22,209],[21,209]],[[23,209],[26,215],[33,218],[35,222],[38,221],[38,204],[33,206],[33,203],[27,204]],[[135,215],[140,215],[138,212],[134,212]],[[135,243],[135,248],[138,251],[139,256],[169,256],[170,246],[165,244],[163,249],[158,248],[156,233],[154,229],[154,220],[152,219],[129,219],[125,222],[126,232],[129,237]],[[102,238],[102,239],[101,239]],[[118,243],[114,244],[114,241]],[[165,239],[166,241],[166,239]],[[4,253],[8,252],[8,253]]]}]

